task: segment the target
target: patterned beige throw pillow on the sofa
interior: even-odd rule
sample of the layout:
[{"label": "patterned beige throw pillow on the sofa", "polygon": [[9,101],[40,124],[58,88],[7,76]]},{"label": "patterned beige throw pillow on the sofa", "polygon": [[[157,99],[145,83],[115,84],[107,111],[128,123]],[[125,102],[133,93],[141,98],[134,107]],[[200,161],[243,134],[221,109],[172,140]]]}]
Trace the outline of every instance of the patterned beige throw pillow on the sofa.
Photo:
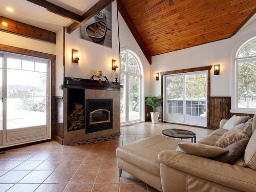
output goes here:
[{"label": "patterned beige throw pillow on the sofa", "polygon": [[215,146],[225,148],[232,143],[242,139],[249,139],[251,137],[251,123],[241,123],[233,129],[224,133],[217,141]]}]

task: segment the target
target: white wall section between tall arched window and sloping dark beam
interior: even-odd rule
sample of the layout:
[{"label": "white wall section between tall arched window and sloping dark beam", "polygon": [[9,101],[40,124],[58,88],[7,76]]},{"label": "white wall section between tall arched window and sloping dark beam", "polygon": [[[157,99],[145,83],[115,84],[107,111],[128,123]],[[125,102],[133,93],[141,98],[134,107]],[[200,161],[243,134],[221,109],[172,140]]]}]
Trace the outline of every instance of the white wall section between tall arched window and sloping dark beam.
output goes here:
[{"label": "white wall section between tall arched window and sloping dark beam", "polygon": [[127,27],[126,23],[123,20],[123,17],[118,12],[119,18],[119,35],[120,35],[120,48],[122,49],[129,49],[133,51],[140,59],[142,68],[143,68],[143,78],[144,78],[144,96],[150,94],[150,81],[151,81],[151,74],[150,74],[150,63],[148,63],[145,55],[141,51],[137,41],[135,40],[133,34],[131,33],[130,29]]}]

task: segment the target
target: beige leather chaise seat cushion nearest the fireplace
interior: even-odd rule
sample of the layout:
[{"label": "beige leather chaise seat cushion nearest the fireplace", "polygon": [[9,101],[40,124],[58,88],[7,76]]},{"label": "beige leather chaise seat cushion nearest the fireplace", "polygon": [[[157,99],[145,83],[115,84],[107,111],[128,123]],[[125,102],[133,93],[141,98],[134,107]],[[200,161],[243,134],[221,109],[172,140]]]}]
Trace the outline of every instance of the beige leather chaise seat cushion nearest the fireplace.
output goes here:
[{"label": "beige leather chaise seat cushion nearest the fireplace", "polygon": [[158,153],[164,150],[175,150],[180,142],[182,140],[156,135],[120,146],[116,150],[116,155],[118,158],[160,177]]}]

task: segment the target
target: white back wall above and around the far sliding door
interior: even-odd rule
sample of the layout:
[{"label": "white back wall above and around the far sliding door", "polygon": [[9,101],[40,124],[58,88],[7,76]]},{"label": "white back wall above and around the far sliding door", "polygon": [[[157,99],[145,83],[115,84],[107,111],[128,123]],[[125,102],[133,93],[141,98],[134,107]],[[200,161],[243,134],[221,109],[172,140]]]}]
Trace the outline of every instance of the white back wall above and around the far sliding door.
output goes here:
[{"label": "white back wall above and around the far sliding door", "polygon": [[256,36],[256,20],[250,21],[249,25],[229,39],[153,56],[151,94],[155,96],[161,94],[161,79],[155,80],[156,72],[220,64],[220,75],[214,75],[213,68],[211,70],[211,96],[231,96],[232,56],[243,42],[254,36]]}]

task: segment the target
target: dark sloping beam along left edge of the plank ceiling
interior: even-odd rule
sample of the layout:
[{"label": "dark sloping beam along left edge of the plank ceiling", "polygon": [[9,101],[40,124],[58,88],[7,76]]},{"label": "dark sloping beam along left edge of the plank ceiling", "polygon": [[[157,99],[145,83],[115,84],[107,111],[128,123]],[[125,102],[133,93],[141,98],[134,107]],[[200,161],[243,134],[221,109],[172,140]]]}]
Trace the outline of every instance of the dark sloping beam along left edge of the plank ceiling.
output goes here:
[{"label": "dark sloping beam along left edge of the plank ceiling", "polygon": [[142,40],[139,32],[137,31],[137,29],[136,29],[136,27],[135,27],[131,17],[127,13],[127,11],[126,11],[124,5],[122,4],[121,0],[117,0],[117,9],[120,12],[120,14],[122,15],[126,25],[129,27],[130,31],[132,32],[135,40],[139,44],[140,49],[144,53],[147,61],[151,65],[152,64],[151,53],[150,53],[150,51],[148,51],[146,45],[144,44],[144,41]]}]

